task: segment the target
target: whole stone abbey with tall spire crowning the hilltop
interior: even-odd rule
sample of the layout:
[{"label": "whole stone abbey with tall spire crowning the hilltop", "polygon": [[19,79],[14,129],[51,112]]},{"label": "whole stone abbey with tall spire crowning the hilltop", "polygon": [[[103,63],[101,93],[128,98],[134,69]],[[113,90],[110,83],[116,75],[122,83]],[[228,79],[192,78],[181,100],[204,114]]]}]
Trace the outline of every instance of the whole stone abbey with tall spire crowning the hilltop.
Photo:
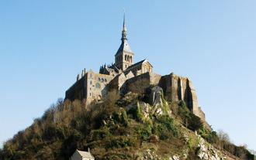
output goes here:
[{"label": "whole stone abbey with tall spire crowning the hilltop", "polygon": [[115,54],[115,63],[100,66],[99,73],[82,70],[76,82],[66,91],[65,99],[85,99],[90,104],[106,97],[109,90],[118,90],[121,95],[128,92],[145,94],[148,87],[159,86],[167,100],[184,100],[192,113],[202,120],[205,119],[198,104],[195,88],[187,77],[180,77],[174,73],[161,76],[153,72],[153,66],[147,60],[134,63],[134,53],[127,41],[125,17],[121,41]]}]

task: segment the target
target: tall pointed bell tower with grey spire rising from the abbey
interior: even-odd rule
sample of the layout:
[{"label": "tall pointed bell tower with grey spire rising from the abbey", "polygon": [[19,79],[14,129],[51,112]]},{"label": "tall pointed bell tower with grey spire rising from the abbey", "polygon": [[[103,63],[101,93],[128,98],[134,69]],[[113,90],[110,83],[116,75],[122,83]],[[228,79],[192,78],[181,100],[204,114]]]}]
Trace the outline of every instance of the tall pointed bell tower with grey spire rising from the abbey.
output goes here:
[{"label": "tall pointed bell tower with grey spire rising from the abbey", "polygon": [[126,29],[126,17],[123,15],[123,31],[122,31],[122,43],[115,55],[115,64],[120,70],[126,70],[128,66],[133,64],[133,51],[127,42],[127,29]]}]

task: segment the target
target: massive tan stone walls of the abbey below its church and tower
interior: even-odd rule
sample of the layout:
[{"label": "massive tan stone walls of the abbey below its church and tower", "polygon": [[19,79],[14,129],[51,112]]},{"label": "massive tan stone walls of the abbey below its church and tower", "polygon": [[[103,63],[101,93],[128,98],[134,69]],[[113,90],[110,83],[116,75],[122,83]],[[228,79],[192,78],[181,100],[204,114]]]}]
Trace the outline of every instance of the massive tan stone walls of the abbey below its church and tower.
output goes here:
[{"label": "massive tan stone walls of the abbey below its church and tower", "polygon": [[66,98],[70,100],[86,98],[88,102],[91,102],[106,97],[109,90],[119,90],[120,94],[127,92],[145,94],[148,87],[157,85],[163,89],[165,99],[174,102],[184,100],[192,113],[201,117],[202,120],[205,119],[192,82],[187,77],[180,77],[174,73],[161,76],[147,72],[134,77],[130,71],[112,77],[90,70],[66,91]]}]

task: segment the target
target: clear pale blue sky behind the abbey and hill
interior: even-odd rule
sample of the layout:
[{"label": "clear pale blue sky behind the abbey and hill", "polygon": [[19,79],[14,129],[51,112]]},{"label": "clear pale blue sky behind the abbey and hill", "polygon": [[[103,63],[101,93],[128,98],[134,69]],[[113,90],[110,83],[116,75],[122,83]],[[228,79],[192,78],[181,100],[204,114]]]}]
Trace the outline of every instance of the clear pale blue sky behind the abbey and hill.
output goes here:
[{"label": "clear pale blue sky behind the abbey and hill", "polygon": [[0,143],[40,117],[83,68],[112,63],[123,8],[135,60],[192,80],[215,130],[256,150],[256,1],[1,1]]}]

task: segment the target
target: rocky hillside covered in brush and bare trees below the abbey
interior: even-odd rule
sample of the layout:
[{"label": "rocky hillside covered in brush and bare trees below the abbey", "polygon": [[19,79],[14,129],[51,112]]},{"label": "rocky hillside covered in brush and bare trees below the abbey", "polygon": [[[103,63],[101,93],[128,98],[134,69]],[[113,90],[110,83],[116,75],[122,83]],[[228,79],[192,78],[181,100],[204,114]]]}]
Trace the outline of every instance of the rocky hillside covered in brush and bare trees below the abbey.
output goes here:
[{"label": "rocky hillside covered in brush and bare trees below the abbey", "polygon": [[68,159],[75,149],[91,149],[95,159],[254,159],[227,134],[217,134],[183,101],[163,96],[109,93],[85,101],[58,100],[42,117],[6,141],[1,159]]}]

